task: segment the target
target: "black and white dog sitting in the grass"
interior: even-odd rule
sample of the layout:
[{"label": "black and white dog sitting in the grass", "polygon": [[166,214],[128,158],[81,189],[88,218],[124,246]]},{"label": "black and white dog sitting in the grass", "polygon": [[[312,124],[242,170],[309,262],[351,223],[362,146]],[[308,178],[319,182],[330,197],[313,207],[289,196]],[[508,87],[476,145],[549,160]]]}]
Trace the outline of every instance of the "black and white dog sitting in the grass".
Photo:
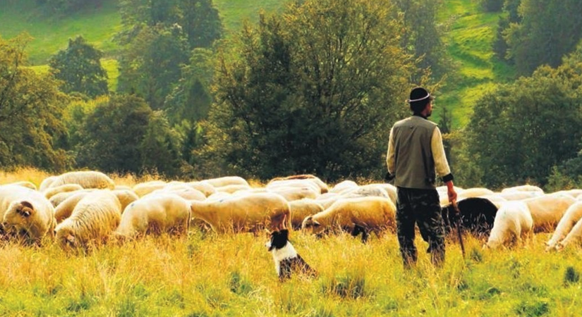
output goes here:
[{"label": "black and white dog sitting in the grass", "polygon": [[271,240],[265,245],[273,255],[279,280],[291,278],[293,272],[300,272],[311,277],[317,276],[317,272],[301,258],[289,242],[289,230],[285,227],[271,232]]}]

